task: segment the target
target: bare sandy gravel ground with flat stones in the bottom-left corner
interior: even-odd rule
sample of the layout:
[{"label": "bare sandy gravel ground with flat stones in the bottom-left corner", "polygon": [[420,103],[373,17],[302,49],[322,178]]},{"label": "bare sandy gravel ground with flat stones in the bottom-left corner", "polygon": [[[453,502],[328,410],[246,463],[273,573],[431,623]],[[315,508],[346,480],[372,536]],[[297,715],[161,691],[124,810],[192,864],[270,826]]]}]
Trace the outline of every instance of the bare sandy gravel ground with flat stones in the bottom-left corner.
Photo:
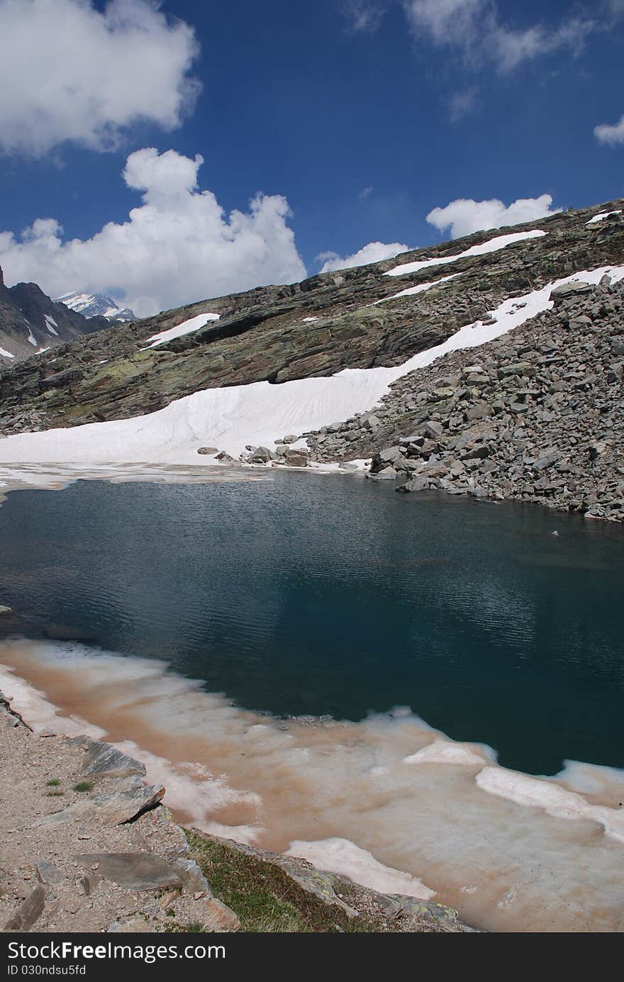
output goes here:
[{"label": "bare sandy gravel ground with flat stones in the bottom-left corner", "polygon": [[[156,807],[127,824],[111,822],[110,802],[128,778],[85,778],[88,743],[31,733],[0,703],[0,924],[11,929],[23,901],[44,895],[34,929],[44,932],[223,930],[230,920],[207,884],[175,883],[188,851],[182,829]],[[92,784],[75,791],[81,783]],[[69,820],[63,813],[69,809]],[[73,814],[74,811],[77,814]],[[58,815],[60,821],[51,816]],[[103,816],[103,820],[102,817]],[[173,884],[133,890],[102,876],[103,860],[84,853],[148,853],[170,864]],[[140,860],[141,861],[141,857]],[[188,862],[188,860],[187,860]],[[124,860],[128,869],[133,858]],[[166,879],[166,877],[165,877]],[[43,881],[43,882],[42,882]],[[37,888],[43,887],[43,890]],[[182,889],[181,889],[182,888]],[[197,889],[194,889],[197,888]],[[34,898],[32,898],[34,892]],[[28,909],[28,908],[27,908]],[[15,922],[13,922],[15,923]],[[28,929],[24,924],[14,930]]]}]

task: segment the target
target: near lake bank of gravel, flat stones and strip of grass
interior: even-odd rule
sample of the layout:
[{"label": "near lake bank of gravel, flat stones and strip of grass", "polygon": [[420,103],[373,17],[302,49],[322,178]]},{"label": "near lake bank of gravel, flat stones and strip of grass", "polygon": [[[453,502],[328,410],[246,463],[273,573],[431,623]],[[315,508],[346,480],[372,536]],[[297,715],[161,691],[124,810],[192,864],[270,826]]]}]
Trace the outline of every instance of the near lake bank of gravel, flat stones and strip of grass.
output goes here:
[{"label": "near lake bank of gravel, flat stones and strip of grass", "polygon": [[[474,930],[442,904],[185,830],[159,803],[164,789],[145,786],[139,761],[94,736],[33,732],[28,711],[2,692],[0,757],[12,762],[0,779],[5,932]],[[204,873],[217,869],[215,894]],[[223,900],[231,893],[235,905],[247,894],[255,913],[243,905],[239,918]]]}]

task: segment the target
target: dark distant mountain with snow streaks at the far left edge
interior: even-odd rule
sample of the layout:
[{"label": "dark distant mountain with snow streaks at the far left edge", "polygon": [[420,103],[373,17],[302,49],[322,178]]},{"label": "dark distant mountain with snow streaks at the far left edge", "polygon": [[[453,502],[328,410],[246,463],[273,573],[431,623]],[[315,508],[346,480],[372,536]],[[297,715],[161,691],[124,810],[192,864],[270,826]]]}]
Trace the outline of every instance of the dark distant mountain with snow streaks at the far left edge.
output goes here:
[{"label": "dark distant mountain with snow streaks at the far left edge", "polygon": [[64,303],[50,300],[36,283],[7,287],[0,269],[0,370],[107,324],[102,317],[87,320]]}]

